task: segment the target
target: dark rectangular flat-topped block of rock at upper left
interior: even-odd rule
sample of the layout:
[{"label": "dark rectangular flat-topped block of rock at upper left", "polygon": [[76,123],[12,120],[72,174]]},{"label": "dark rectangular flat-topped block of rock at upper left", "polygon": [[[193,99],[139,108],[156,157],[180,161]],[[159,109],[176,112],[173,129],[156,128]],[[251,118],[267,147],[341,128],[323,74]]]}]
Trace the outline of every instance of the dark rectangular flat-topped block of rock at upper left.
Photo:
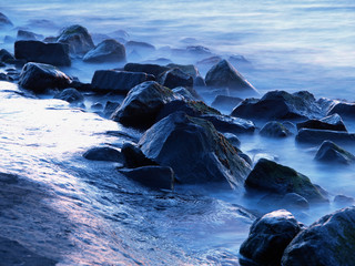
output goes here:
[{"label": "dark rectangular flat-topped block of rock at upper left", "polygon": [[14,57],[27,62],[71,65],[68,44],[40,41],[14,42]]}]

